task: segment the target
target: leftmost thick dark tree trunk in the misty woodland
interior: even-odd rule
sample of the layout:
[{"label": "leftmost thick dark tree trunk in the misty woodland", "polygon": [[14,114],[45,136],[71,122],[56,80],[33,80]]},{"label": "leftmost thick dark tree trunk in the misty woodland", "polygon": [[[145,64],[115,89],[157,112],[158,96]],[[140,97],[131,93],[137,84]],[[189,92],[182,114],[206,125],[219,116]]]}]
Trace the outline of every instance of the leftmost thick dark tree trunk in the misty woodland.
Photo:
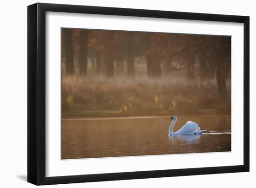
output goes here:
[{"label": "leftmost thick dark tree trunk in the misty woodland", "polygon": [[66,74],[74,75],[74,46],[73,46],[73,36],[72,29],[65,30],[66,39]]}]

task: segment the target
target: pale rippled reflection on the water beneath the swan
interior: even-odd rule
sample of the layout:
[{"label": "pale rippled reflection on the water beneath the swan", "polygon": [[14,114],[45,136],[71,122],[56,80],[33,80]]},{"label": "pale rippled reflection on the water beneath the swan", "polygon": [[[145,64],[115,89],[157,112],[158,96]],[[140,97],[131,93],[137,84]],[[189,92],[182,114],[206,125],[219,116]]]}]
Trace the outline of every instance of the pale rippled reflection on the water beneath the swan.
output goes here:
[{"label": "pale rippled reflection on the water beneath the swan", "polygon": [[172,143],[185,142],[186,144],[199,143],[203,134],[183,134],[183,135],[169,135],[169,141]]}]

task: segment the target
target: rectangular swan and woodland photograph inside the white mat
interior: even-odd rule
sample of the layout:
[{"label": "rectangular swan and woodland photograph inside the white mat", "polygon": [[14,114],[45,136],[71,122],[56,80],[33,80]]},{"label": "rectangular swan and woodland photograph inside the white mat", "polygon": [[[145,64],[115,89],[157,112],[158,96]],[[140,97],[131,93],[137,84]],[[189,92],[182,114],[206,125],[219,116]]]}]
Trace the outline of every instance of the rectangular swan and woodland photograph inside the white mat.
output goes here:
[{"label": "rectangular swan and woodland photograph inside the white mat", "polygon": [[231,151],[231,36],[61,28],[61,159]]}]

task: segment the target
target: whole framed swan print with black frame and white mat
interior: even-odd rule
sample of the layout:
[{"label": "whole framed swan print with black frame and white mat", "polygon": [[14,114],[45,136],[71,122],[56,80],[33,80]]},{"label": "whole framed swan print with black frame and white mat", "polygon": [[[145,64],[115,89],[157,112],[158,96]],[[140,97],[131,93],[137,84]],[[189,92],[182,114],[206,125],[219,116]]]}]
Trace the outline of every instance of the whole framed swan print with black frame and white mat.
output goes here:
[{"label": "whole framed swan print with black frame and white mat", "polygon": [[249,17],[27,8],[27,180],[249,171]]}]

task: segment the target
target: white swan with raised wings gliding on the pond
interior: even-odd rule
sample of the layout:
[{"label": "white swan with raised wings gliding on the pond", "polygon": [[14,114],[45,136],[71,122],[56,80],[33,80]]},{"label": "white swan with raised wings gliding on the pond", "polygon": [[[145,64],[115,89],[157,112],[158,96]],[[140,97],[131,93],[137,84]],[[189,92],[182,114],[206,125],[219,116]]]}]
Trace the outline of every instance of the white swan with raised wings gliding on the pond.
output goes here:
[{"label": "white swan with raised wings gliding on the pond", "polygon": [[177,122],[178,118],[177,116],[172,116],[170,121],[172,121],[170,127],[169,127],[169,135],[176,135],[176,134],[202,134],[206,130],[200,130],[200,127],[198,127],[198,124],[193,121],[188,121],[185,125],[183,125],[180,130],[173,132],[173,127],[175,123]]}]

